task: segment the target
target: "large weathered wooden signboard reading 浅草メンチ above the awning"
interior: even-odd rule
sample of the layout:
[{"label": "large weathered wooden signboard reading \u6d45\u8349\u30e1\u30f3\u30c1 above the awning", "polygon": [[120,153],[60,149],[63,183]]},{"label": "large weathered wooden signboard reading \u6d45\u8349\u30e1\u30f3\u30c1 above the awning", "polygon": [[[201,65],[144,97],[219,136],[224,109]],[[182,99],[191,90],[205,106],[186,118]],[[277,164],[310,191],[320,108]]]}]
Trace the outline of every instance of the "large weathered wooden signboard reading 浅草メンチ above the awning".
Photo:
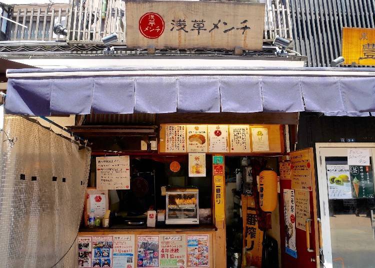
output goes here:
[{"label": "large weathered wooden signboard reading \u6d45\u8349\u30e1\u30f3\u30c1 above the awning", "polygon": [[126,46],[261,50],[264,4],[127,1]]}]

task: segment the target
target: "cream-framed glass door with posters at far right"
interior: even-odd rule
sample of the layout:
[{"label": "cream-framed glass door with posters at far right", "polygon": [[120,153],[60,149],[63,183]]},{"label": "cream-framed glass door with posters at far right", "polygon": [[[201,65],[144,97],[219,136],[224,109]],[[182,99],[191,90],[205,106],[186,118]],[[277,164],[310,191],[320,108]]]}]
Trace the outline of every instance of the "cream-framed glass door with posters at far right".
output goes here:
[{"label": "cream-framed glass door with posters at far right", "polygon": [[374,143],[316,143],[326,268],[375,267]]}]

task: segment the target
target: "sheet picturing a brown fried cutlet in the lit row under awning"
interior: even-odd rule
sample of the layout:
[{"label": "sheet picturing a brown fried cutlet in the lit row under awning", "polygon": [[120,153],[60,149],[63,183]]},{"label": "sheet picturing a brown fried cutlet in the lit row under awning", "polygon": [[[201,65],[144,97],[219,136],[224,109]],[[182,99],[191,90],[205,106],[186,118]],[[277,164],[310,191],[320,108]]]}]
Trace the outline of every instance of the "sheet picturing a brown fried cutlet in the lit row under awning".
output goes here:
[{"label": "sheet picturing a brown fried cutlet in the lit row under awning", "polygon": [[187,152],[207,152],[207,125],[186,125]]}]

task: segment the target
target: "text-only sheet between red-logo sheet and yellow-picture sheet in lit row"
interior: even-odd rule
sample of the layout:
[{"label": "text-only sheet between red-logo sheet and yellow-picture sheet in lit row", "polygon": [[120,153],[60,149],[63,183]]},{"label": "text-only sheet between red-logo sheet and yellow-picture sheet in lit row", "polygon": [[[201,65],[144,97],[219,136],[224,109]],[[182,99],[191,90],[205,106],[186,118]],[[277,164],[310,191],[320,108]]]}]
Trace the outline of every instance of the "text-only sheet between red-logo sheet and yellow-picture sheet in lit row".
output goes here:
[{"label": "text-only sheet between red-logo sheet and yellow-picture sheet in lit row", "polygon": [[229,125],[230,152],[250,152],[250,132],[247,124]]}]

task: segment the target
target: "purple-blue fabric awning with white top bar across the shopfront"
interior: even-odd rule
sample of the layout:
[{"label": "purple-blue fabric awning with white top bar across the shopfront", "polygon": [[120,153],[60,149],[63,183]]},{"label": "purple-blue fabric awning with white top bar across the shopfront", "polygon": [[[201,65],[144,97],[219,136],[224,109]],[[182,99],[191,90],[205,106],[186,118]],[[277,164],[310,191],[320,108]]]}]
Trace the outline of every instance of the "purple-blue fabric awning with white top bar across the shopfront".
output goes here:
[{"label": "purple-blue fabric awning with white top bar across the shopfront", "polygon": [[375,112],[370,68],[10,69],[5,109],[29,115]]}]

